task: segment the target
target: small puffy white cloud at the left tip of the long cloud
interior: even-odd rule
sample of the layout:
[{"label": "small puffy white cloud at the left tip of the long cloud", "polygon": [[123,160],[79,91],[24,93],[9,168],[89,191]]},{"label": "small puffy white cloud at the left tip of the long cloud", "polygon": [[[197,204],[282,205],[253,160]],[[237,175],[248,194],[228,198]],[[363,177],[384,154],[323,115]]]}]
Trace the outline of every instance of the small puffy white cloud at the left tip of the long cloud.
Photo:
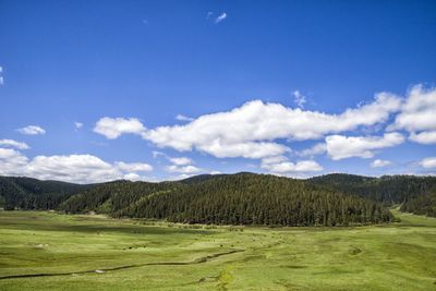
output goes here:
[{"label": "small puffy white cloud at the left tip of the long cloud", "polygon": [[106,117],[98,120],[94,128],[94,132],[105,135],[109,140],[114,140],[124,133],[143,135],[146,129],[143,123],[135,118]]}]

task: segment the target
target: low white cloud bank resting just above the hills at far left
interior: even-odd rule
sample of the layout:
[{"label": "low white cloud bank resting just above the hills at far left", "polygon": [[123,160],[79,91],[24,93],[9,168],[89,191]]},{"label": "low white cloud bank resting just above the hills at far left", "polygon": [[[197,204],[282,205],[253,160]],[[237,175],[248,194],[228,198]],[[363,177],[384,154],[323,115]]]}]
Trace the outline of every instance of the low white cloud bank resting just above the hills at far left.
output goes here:
[{"label": "low white cloud bank resting just above the hills at far left", "polygon": [[110,163],[92,155],[36,156],[28,159],[15,149],[0,148],[0,174],[2,175],[96,183],[118,179],[135,180],[140,177],[136,172],[150,170],[152,166],[146,163]]}]

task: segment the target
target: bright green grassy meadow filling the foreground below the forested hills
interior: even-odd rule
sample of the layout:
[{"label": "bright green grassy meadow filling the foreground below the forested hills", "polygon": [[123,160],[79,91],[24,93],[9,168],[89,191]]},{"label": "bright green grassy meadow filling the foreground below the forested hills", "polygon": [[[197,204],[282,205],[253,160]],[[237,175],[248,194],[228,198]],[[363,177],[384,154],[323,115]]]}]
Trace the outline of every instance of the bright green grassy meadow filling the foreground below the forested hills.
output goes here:
[{"label": "bright green grassy meadow filling the foreground below the forested hills", "polygon": [[0,290],[436,290],[436,219],[191,229],[0,211]]}]

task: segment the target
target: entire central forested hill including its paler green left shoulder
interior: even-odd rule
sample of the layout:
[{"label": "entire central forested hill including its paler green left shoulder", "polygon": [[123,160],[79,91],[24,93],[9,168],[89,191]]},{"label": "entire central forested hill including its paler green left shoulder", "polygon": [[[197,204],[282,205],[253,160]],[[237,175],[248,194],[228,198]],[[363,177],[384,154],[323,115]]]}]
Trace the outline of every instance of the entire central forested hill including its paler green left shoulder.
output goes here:
[{"label": "entire central forested hill including its paler green left shoulder", "polygon": [[390,221],[380,204],[311,183],[239,173],[181,182],[114,182],[74,195],[68,213],[217,225],[346,226]]}]

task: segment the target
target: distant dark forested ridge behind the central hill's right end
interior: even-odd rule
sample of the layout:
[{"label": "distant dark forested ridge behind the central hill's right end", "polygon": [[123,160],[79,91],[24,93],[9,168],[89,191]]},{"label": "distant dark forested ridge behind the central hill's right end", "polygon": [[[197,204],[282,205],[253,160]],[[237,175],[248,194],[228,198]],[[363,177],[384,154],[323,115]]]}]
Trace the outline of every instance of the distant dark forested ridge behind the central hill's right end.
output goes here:
[{"label": "distant dark forested ridge behind the central hill's right end", "polygon": [[371,178],[335,173],[315,177],[307,181],[371,198],[387,206],[400,204],[436,190],[435,177],[384,175]]}]

